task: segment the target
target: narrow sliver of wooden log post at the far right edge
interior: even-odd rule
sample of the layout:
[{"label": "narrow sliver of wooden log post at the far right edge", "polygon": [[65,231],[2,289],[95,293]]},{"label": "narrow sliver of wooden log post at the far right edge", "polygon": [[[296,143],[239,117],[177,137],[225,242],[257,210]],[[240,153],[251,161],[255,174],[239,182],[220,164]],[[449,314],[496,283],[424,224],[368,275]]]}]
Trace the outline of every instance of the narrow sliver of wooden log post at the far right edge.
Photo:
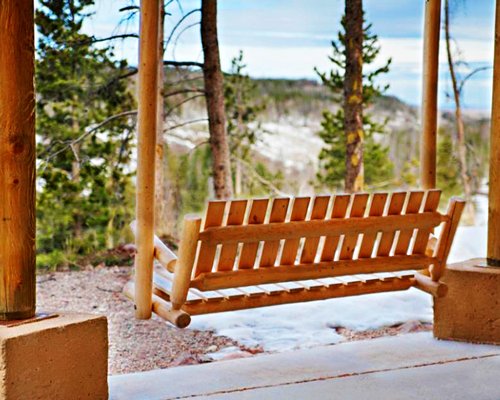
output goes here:
[{"label": "narrow sliver of wooden log post at the far right edge", "polygon": [[500,267],[500,0],[496,2],[493,68],[487,262],[489,266]]}]

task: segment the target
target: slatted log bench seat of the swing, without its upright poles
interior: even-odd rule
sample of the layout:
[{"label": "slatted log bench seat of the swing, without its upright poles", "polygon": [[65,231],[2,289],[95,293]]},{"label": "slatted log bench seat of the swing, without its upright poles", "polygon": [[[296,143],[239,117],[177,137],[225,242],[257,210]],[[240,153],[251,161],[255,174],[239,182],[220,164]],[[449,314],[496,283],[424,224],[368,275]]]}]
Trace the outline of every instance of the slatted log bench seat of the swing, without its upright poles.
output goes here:
[{"label": "slatted log bench seat of the swing, without its upright poles", "polygon": [[[155,237],[153,311],[182,328],[191,315],[410,287],[442,297],[465,202],[453,198],[441,214],[440,195],[210,201],[203,223],[184,218],[178,258]],[[133,281],[124,292],[133,299]]]}]

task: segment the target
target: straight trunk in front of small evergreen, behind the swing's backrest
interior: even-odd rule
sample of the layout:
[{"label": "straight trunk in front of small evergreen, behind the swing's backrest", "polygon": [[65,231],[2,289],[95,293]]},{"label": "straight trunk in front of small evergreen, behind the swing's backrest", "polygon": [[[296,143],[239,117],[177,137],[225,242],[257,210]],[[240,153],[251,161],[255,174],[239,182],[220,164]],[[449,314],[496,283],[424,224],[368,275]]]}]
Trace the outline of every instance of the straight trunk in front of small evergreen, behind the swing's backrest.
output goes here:
[{"label": "straight trunk in front of small evergreen, behind the swing's backrest", "polygon": [[344,126],[346,192],[363,190],[363,1],[345,2]]}]

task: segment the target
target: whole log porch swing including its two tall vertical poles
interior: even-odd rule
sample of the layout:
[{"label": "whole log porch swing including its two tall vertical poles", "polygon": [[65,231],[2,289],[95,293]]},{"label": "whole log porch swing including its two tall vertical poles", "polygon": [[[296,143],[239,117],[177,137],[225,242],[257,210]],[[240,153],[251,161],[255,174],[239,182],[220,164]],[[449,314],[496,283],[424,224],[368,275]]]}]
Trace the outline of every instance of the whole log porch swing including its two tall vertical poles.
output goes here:
[{"label": "whole log porch swing including its two tall vertical poles", "polygon": [[[153,232],[158,11],[157,0],[142,0],[138,254],[124,290],[137,318],[154,311],[185,327],[190,315],[410,287],[446,294],[440,278],[464,202],[452,199],[441,214],[441,192],[433,189],[440,0],[426,1],[420,154],[427,191],[211,201],[203,224],[185,218],[179,258]],[[162,266],[155,272],[154,258]]]}]

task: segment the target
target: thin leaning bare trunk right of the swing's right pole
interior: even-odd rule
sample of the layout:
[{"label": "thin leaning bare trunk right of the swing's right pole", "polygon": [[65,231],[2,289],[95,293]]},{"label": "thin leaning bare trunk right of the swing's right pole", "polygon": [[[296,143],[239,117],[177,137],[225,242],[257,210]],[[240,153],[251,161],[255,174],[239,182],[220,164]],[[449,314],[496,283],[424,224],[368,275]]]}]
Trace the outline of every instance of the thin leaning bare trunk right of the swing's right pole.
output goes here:
[{"label": "thin leaning bare trunk right of the swing's right pole", "polygon": [[453,88],[453,99],[455,101],[455,123],[456,123],[456,135],[457,135],[457,147],[458,147],[458,161],[460,163],[460,177],[462,178],[462,184],[464,187],[464,196],[467,201],[468,216],[474,219],[474,206],[472,203],[472,188],[470,182],[470,176],[468,174],[467,168],[467,149],[465,146],[465,129],[464,121],[462,118],[462,106],[460,104],[460,88],[457,82],[457,76],[455,73],[455,64],[453,62],[453,56],[451,54],[451,35],[450,35],[450,2],[445,0],[444,3],[444,31],[446,40],[446,55],[448,58],[448,68],[451,76],[451,83]]}]

